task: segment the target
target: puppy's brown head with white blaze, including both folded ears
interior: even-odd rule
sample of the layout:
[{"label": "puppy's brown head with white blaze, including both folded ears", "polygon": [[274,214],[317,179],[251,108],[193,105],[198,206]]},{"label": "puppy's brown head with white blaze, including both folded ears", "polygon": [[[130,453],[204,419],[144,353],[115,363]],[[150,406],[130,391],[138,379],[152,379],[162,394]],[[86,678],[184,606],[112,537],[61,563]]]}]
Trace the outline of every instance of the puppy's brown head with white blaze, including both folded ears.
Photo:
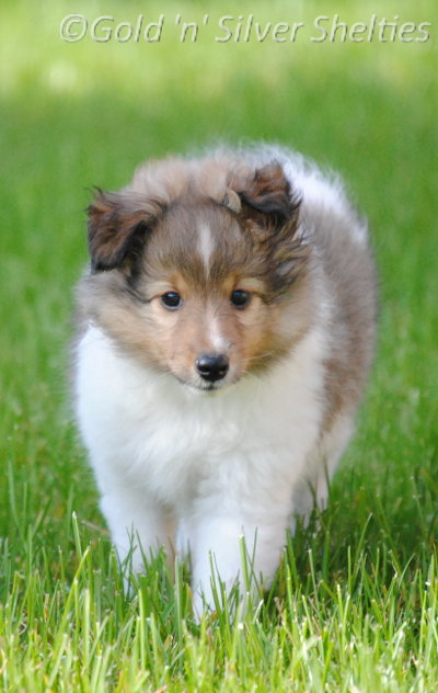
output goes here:
[{"label": "puppy's brown head with white blaze, including both folded ears", "polygon": [[229,174],[215,196],[193,172],[164,192],[96,196],[82,304],[137,359],[215,390],[268,367],[307,329],[298,204],[275,166]]}]

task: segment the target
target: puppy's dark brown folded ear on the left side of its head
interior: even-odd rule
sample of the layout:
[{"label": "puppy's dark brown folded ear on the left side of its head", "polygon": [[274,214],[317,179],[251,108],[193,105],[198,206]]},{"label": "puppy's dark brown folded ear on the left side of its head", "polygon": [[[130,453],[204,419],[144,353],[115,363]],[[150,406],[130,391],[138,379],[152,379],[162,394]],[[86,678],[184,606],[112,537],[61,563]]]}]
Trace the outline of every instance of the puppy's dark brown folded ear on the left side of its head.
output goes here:
[{"label": "puppy's dark brown folded ear on the left side of its head", "polygon": [[138,193],[99,191],[88,207],[93,271],[119,268],[162,212],[163,205]]}]

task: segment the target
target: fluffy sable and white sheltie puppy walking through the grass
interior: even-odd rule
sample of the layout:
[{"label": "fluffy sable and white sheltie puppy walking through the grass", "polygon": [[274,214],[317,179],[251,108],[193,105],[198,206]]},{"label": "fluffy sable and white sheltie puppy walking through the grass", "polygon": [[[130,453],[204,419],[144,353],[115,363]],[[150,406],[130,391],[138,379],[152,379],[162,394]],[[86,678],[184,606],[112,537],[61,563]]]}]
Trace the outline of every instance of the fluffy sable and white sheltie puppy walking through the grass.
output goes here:
[{"label": "fluffy sable and white sheltie puppy walking through the grass", "polygon": [[326,502],[373,352],[366,223],[265,145],[147,162],[88,212],[76,402],[102,511],[135,571],[189,552],[212,606],[240,537],[267,584],[293,518]]}]

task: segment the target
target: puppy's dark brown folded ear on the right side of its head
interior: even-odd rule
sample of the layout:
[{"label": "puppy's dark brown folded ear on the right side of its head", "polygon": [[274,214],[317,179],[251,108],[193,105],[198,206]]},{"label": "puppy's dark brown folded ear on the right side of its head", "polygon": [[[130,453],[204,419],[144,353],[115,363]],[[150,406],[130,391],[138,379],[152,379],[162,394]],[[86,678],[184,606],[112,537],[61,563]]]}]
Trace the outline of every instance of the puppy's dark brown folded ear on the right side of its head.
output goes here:
[{"label": "puppy's dark brown folded ear on the right side of its head", "polygon": [[279,163],[257,169],[246,188],[238,191],[242,202],[256,212],[284,224],[296,215],[299,201],[293,197],[289,181]]}]

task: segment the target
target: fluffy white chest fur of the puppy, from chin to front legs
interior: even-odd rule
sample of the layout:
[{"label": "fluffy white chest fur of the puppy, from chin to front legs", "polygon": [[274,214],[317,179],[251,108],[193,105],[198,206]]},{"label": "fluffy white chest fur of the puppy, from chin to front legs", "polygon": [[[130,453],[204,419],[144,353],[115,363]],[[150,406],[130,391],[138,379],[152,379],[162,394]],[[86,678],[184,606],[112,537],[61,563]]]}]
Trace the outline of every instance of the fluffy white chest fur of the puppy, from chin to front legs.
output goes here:
[{"label": "fluffy white chest fur of the puppy, from chin to front legs", "polygon": [[320,334],[263,378],[196,393],[90,327],[78,346],[77,411],[101,491],[115,479],[177,507],[200,484],[278,474],[292,482],[319,435]]}]

